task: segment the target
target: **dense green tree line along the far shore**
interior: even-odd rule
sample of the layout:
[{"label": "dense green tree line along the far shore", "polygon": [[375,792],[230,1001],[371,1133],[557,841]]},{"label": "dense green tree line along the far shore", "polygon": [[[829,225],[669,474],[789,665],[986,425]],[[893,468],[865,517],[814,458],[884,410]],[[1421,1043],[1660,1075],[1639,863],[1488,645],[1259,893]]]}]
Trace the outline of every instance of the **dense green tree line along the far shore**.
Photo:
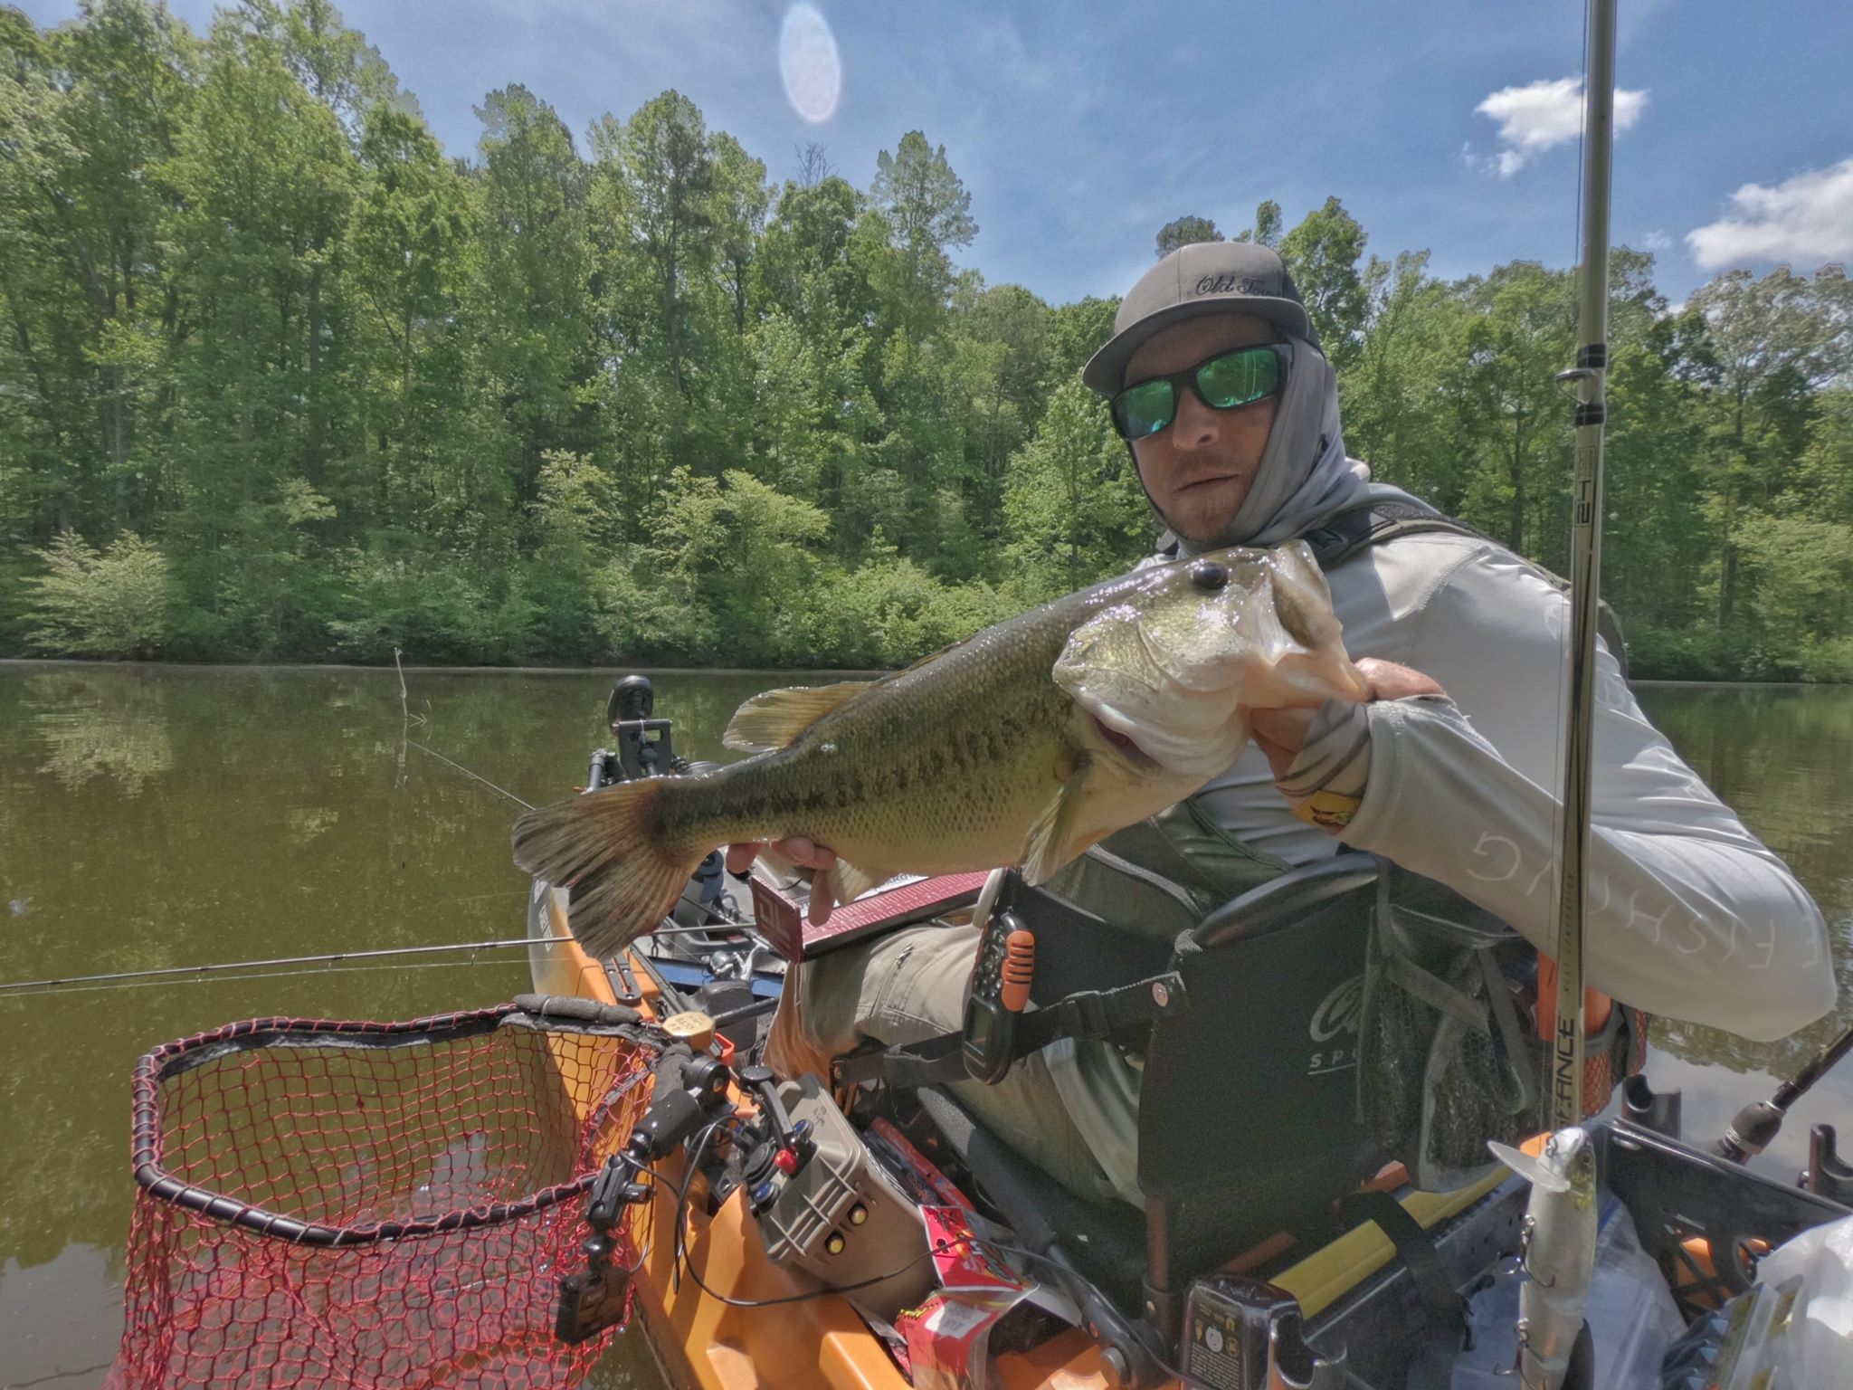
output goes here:
[{"label": "dense green tree line along the far shore", "polygon": [[[0,2],[0,658],[899,667],[1153,543],[1078,384],[1116,304],[956,263],[923,132],[775,178],[680,93],[574,133],[510,85],[454,158],[326,0]],[[1236,235],[1349,452],[1562,571],[1575,274],[1440,280],[1336,196]],[[1610,315],[1632,673],[1853,680],[1844,269],[1671,306],[1620,246]]]}]

